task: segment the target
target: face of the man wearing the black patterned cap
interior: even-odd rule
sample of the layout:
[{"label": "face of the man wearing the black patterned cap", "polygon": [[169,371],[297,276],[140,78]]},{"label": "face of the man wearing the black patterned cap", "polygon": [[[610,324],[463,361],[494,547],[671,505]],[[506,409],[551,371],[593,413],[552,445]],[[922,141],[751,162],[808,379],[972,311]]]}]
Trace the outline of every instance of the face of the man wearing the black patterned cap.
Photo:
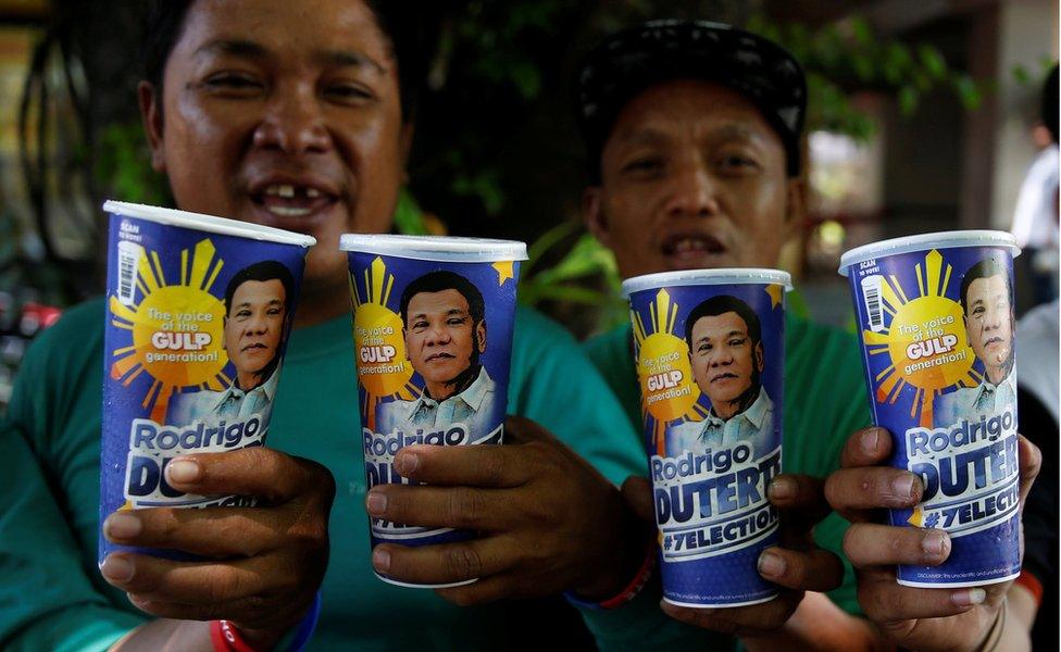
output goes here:
[{"label": "face of the man wearing the black patterned cap", "polygon": [[626,104],[600,171],[583,210],[624,278],[774,267],[801,205],[776,131],[744,96],[708,82],[661,83]]}]

